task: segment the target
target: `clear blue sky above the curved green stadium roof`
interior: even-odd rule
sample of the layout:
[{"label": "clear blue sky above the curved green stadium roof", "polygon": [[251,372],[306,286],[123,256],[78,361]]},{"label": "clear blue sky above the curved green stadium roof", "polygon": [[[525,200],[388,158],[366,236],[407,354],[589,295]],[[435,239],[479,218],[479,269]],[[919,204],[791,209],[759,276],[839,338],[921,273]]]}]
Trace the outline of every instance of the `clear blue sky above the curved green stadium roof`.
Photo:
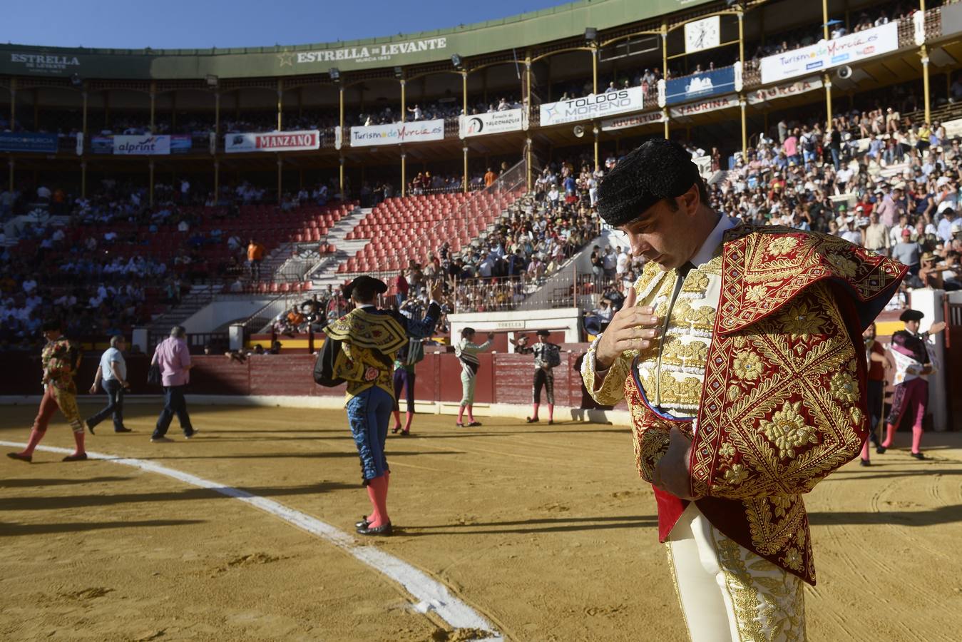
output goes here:
[{"label": "clear blue sky above the curved green stadium roof", "polygon": [[567,4],[558,0],[13,0],[0,42],[139,49],[255,47],[396,36]]}]

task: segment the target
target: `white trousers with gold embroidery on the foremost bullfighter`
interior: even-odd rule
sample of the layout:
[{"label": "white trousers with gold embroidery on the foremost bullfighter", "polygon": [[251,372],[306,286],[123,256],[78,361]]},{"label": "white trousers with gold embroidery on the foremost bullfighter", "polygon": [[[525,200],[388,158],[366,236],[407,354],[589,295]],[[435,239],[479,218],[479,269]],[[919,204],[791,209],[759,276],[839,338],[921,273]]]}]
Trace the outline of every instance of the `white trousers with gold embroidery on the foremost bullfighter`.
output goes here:
[{"label": "white trousers with gold embroidery on the foremost bullfighter", "polygon": [[722,535],[694,502],[666,547],[692,642],[805,640],[802,580]]}]

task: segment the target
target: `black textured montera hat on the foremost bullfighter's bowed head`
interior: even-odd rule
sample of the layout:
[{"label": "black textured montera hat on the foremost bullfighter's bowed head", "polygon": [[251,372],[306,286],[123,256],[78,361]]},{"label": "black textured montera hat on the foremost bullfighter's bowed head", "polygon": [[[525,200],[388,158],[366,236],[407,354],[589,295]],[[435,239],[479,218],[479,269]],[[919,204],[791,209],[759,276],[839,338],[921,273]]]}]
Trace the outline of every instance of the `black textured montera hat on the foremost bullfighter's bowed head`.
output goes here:
[{"label": "black textured montera hat on the foremost bullfighter's bowed head", "polygon": [[652,139],[637,147],[598,185],[598,214],[612,226],[642,215],[663,198],[701,182],[692,155],[676,142]]}]

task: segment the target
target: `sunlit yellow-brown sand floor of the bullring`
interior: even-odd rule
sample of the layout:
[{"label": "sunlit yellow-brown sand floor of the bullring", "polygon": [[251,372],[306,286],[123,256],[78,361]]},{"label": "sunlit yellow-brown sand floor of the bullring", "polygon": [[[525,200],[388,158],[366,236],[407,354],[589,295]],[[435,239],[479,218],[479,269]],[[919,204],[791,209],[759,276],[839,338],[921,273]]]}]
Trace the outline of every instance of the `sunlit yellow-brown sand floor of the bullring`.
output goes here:
[{"label": "sunlit yellow-brown sand floor of the bullring", "polygon": [[[82,405],[85,414],[93,406]],[[367,509],[342,412],[199,407],[201,432],[148,442],[128,407],[88,449],[240,488],[346,532]],[[23,442],[33,406],[5,407]],[[58,417],[44,446],[72,446]],[[389,439],[392,521],[371,539],[514,641],[684,640],[655,506],[621,426],[419,415]],[[176,421],[175,421],[176,425]],[[900,434],[899,446],[907,446]],[[808,501],[819,585],[811,640],[957,640],[962,435],[849,464]],[[2,450],[8,450],[3,448]],[[329,542],[215,490],[111,461],[0,458],[0,639],[464,640],[401,586]]]}]

